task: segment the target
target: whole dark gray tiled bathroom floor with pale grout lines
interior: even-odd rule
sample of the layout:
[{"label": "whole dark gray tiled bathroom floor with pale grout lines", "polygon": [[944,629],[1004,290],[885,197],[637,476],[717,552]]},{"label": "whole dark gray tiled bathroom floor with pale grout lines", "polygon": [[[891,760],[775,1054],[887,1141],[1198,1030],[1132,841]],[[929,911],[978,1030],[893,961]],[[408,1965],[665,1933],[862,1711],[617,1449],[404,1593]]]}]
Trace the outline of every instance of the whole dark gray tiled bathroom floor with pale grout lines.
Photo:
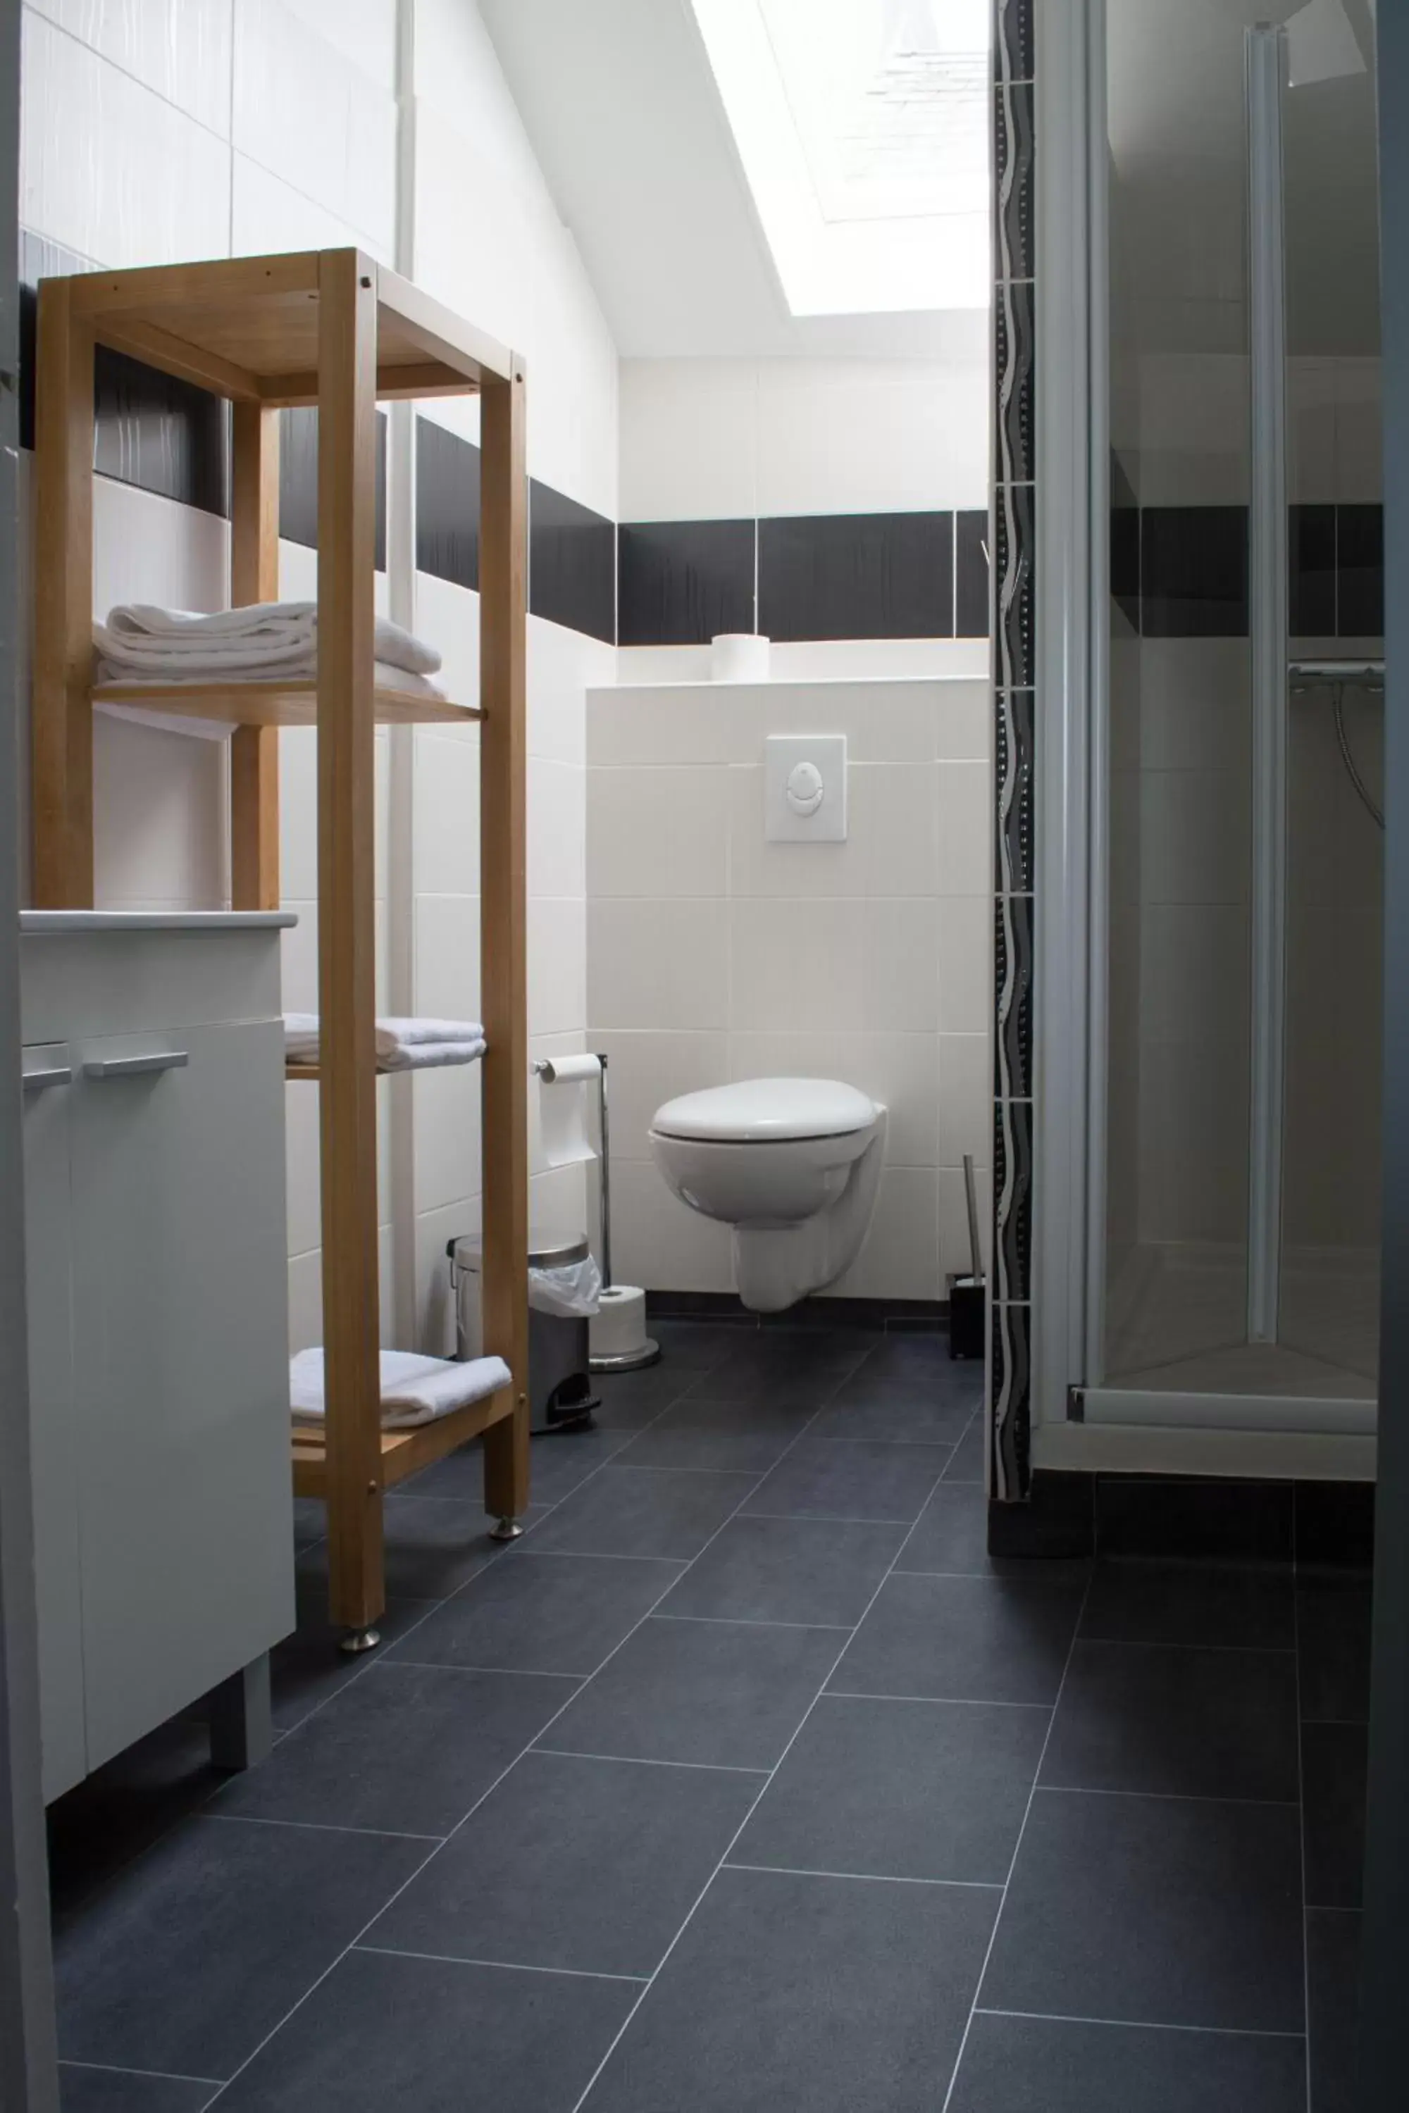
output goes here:
[{"label": "whole dark gray tiled bathroom floor with pale grout lines", "polygon": [[68,2113],[1348,2107],[1367,1581],[991,1562],[942,1338],[659,1333],[372,1659],[300,1507],[262,1769],[55,1807]]}]

